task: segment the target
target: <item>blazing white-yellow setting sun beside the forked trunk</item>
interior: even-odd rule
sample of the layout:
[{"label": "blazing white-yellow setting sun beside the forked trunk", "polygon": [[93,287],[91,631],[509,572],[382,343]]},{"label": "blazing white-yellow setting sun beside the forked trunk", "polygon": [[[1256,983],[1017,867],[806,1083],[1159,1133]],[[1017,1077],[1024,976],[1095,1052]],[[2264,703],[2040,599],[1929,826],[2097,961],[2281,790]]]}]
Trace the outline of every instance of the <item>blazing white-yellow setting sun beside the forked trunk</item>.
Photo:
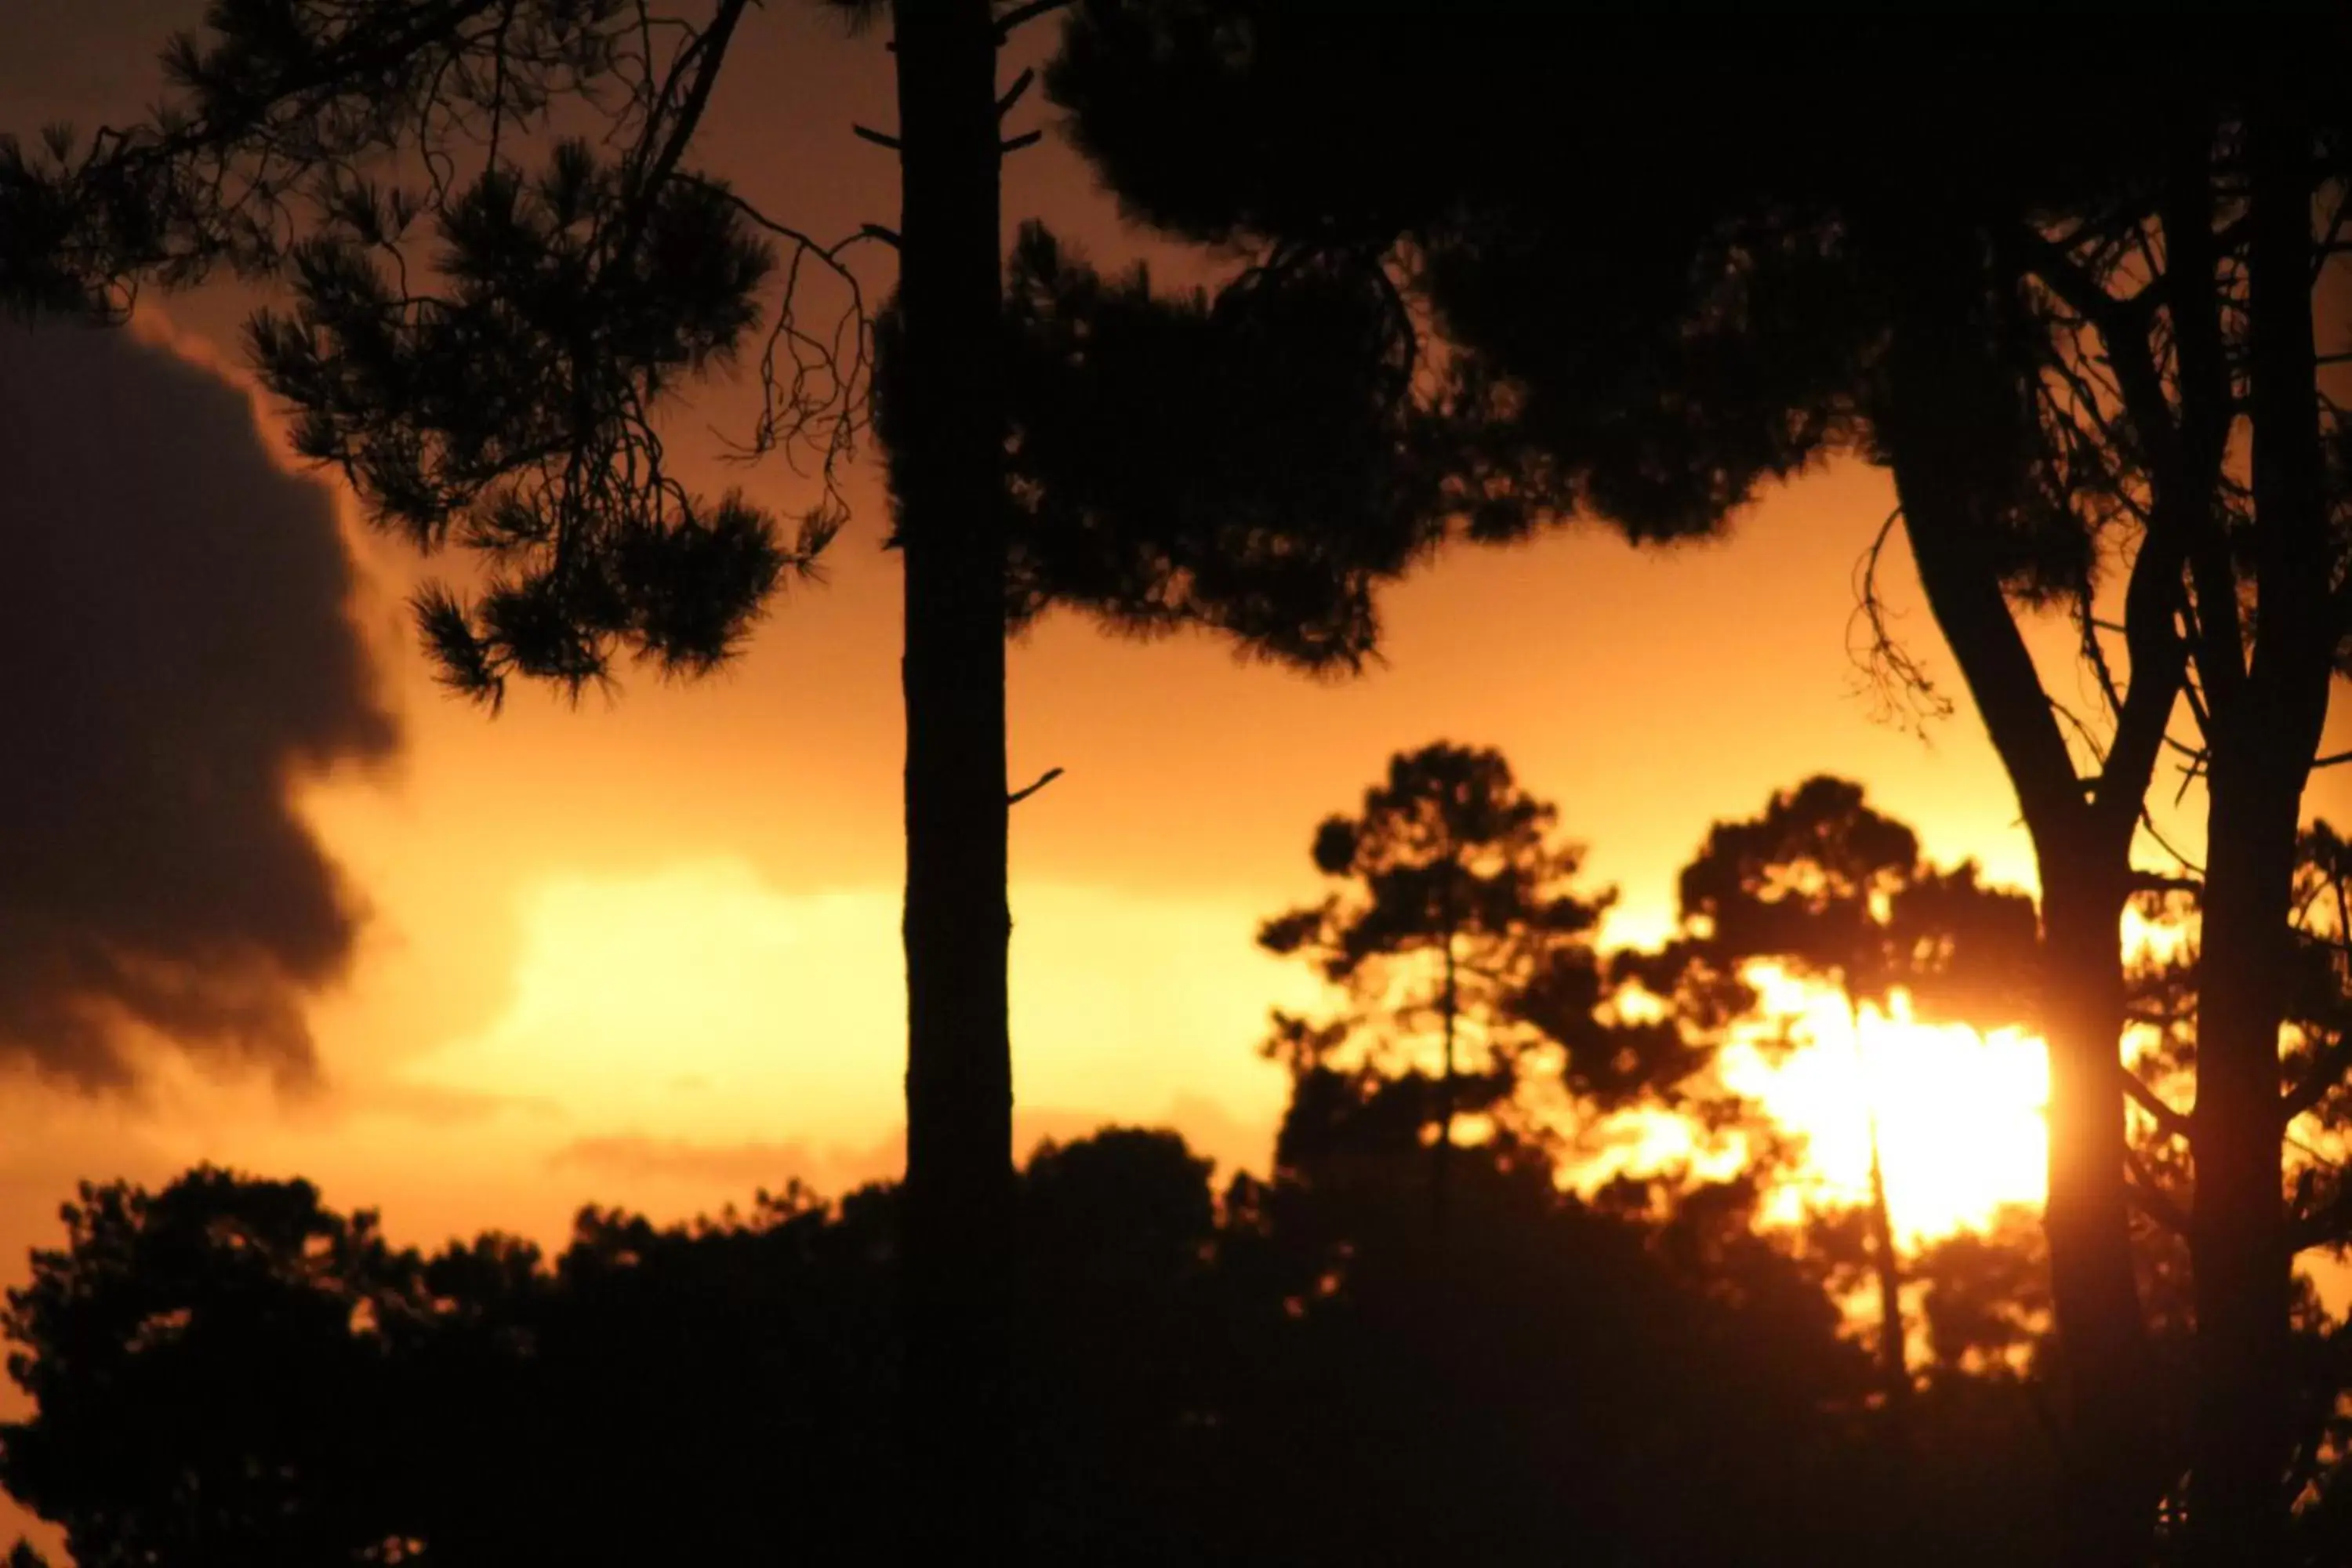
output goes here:
[{"label": "blazing white-yellow setting sun beside the forked trunk", "polygon": [[[1778,992],[1778,994],[1773,994]],[[1802,1192],[1870,1197],[1877,1126],[1886,1208],[1903,1244],[1985,1227],[2006,1204],[2037,1206],[2049,1171],[2049,1056],[2018,1030],[1929,1025],[1898,997],[1889,1011],[1769,983],[1797,1048],[1780,1060],[1731,1046],[1726,1081],[1806,1138]]]}]

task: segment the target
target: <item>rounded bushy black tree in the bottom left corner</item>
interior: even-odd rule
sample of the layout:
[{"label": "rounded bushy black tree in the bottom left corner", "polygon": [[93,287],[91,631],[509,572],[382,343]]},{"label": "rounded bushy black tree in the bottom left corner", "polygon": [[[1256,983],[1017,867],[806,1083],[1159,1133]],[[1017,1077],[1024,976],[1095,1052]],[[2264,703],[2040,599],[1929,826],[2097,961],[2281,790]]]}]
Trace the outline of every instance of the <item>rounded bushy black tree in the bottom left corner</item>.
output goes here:
[{"label": "rounded bushy black tree in the bottom left corner", "polygon": [[395,1331],[419,1260],[308,1182],[82,1185],[0,1314],[0,1483],[85,1568],[379,1563],[409,1537]]}]

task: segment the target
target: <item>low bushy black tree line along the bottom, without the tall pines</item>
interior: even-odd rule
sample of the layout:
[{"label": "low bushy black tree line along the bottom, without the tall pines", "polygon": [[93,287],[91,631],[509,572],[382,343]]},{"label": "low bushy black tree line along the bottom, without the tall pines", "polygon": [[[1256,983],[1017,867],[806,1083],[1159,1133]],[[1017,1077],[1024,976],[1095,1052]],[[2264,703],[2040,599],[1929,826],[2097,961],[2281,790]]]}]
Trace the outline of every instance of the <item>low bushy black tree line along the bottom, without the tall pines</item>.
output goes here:
[{"label": "low bushy black tree line along the bottom, without the tall pines", "polygon": [[[1418,1128],[1355,1126],[1221,1199],[1174,1133],[1028,1161],[1004,1436],[1049,1561],[2058,1561],[1973,1373],[1922,1396],[1952,1469],[1865,1483],[1870,1356],[1752,1185],[1581,1201],[1470,1145],[1437,1260]],[[889,1476],[901,1201],[590,1208],[546,1260],[390,1251],[301,1182],[92,1190],[12,1300],[35,1413],[0,1467],[94,1566],[924,1561]]]}]

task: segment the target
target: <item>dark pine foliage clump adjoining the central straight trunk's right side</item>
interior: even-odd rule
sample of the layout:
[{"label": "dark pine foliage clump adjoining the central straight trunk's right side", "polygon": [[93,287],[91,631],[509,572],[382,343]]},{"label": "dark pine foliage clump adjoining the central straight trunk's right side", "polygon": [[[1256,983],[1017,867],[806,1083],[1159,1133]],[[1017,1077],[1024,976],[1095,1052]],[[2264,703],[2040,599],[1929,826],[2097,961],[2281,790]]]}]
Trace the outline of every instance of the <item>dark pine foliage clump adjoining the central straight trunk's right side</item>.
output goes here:
[{"label": "dark pine foliage clump adjoining the central straight trunk's right side", "polygon": [[1167,296],[1030,223],[1007,343],[1016,625],[1070,604],[1310,670],[1371,651],[1374,585],[1411,564],[1437,501],[1385,292],[1261,268]]}]

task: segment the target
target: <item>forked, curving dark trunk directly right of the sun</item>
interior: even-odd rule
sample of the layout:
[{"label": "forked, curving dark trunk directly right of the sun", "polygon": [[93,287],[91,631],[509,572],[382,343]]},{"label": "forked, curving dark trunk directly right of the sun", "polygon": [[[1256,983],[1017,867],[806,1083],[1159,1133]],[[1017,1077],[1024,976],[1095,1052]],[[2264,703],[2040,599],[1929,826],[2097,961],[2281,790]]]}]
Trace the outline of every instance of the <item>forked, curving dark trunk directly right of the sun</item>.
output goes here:
[{"label": "forked, curving dark trunk directly right of the sun", "polygon": [[[2042,1020],[2051,1058],[2044,1232],[2058,1328],[2067,1561],[2147,1559],[2154,1462],[2147,1324],[2131,1258],[2124,1164],[2122,914],[2154,743],[2145,726],[2084,780],[2051,715],[1985,548],[1985,510],[2018,475],[2002,461],[2002,367],[1983,357],[1994,296],[1966,226],[1910,214],[1870,235],[1900,280],[1879,437],[1929,609],[2018,792],[2042,879]],[[1990,496],[1990,503],[1987,503]],[[2169,604],[2164,607],[2169,621]],[[2171,710],[2178,665],[2133,668],[2133,705]],[[2131,722],[2133,715],[2126,715]],[[2161,731],[2157,731],[2161,733]]]}]

